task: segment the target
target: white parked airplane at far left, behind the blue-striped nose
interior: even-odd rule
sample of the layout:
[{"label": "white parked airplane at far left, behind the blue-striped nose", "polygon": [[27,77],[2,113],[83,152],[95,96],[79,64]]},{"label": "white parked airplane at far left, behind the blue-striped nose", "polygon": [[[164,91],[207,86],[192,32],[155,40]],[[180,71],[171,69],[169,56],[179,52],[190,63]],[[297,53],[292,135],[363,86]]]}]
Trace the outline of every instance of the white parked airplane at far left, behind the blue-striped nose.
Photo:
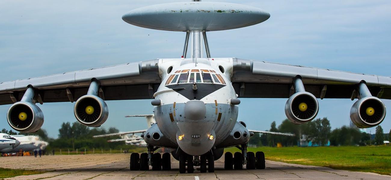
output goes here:
[{"label": "white parked airplane at far left, behind the blue-striped nose", "polygon": [[0,150],[2,153],[16,153],[20,152],[29,152],[34,150],[44,150],[47,145],[49,145],[48,142],[43,141],[39,136],[25,136],[25,135],[13,135],[13,137],[20,142],[19,146],[16,146],[15,148],[7,149],[7,150]]}]

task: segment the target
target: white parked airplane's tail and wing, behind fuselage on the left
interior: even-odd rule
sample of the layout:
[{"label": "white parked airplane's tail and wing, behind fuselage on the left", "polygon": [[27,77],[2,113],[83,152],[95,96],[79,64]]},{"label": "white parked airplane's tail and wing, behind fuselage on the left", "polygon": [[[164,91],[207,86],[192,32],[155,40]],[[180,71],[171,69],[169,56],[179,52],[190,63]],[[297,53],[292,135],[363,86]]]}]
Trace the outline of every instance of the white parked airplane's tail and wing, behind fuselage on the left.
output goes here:
[{"label": "white parked airplane's tail and wing, behind fuselage on the left", "polygon": [[[151,127],[152,124],[156,123],[154,115],[129,115],[125,116],[127,117],[145,117],[147,119],[147,127]],[[136,146],[147,146],[147,143],[141,138],[140,136],[135,135],[135,133],[139,133],[140,131],[129,131],[129,132],[118,132],[118,133],[111,133],[111,134],[102,134],[93,136],[93,138],[99,138],[99,137],[107,137],[107,136],[120,136],[120,139],[110,139],[108,140],[109,143],[111,142],[118,142],[118,141],[125,141],[127,145],[136,145]],[[130,136],[127,136],[127,134],[132,134]]]}]

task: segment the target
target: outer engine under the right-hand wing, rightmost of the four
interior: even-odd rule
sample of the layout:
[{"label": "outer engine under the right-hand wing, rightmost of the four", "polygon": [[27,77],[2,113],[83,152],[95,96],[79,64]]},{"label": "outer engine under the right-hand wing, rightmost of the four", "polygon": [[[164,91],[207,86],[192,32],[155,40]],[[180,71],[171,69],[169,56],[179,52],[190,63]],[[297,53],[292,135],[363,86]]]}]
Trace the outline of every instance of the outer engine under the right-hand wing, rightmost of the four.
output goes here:
[{"label": "outer engine under the right-hand wing, rightmost of the four", "polygon": [[350,119],[359,128],[379,125],[386,116],[386,106],[377,97],[367,96],[355,102],[350,109]]}]

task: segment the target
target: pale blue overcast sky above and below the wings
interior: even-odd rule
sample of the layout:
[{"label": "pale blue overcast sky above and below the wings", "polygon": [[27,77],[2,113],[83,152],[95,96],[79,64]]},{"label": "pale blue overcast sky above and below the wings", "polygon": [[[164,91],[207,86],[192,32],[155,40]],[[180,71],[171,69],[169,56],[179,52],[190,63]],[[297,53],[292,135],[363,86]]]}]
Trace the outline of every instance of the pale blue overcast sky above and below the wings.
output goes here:
[{"label": "pale blue overcast sky above and below the wings", "polygon": [[[209,32],[213,57],[391,76],[389,0],[215,1],[259,7],[271,17],[246,28]],[[0,82],[154,58],[179,58],[185,33],[140,28],[121,19],[132,9],[162,2],[2,0]],[[280,124],[286,118],[286,100],[241,99],[238,120],[246,122],[250,129],[269,129],[271,122]],[[319,99],[317,117],[328,117],[332,128],[349,125],[350,107],[355,101]],[[391,107],[390,100],[383,101]],[[150,102],[108,101],[110,113],[103,127],[117,127],[120,131],[145,129],[144,118],[124,116],[152,113]],[[42,128],[51,137],[57,137],[63,122],[76,121],[73,103],[38,106],[45,114]],[[9,105],[0,106],[0,128],[11,129],[6,120],[8,108]],[[389,132],[391,115],[381,125]]]}]

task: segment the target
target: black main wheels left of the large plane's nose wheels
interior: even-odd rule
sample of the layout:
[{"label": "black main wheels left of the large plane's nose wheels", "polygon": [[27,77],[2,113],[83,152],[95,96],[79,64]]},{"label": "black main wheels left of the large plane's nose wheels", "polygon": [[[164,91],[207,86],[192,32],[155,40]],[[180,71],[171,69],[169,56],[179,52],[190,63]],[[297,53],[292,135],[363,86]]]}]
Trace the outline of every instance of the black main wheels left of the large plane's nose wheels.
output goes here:
[{"label": "black main wheels left of the large plane's nose wheels", "polygon": [[132,153],[130,155],[130,170],[131,171],[148,171],[149,165],[152,166],[153,171],[171,170],[171,155],[166,152],[163,155],[160,153],[153,153],[159,147],[147,145],[148,153]]}]

